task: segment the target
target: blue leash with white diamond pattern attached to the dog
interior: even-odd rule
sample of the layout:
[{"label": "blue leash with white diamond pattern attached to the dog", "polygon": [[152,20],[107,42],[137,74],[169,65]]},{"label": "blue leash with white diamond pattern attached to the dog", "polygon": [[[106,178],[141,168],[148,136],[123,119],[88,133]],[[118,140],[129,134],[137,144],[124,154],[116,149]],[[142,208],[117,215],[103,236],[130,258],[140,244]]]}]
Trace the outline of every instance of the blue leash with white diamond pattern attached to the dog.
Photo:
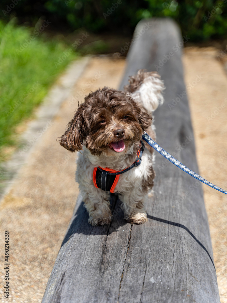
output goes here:
[{"label": "blue leash with white diamond pattern attached to the dog", "polygon": [[227,195],[227,191],[210,183],[209,181],[207,181],[206,179],[202,178],[200,175],[197,175],[194,171],[190,170],[189,168],[187,168],[187,166],[183,165],[180,161],[176,160],[173,156],[169,155],[167,153],[167,151],[165,151],[163,148],[161,148],[156,142],[154,142],[154,140],[152,140],[146,132],[144,132],[144,134],[142,135],[142,138],[144,141],[146,141],[150,146],[152,146],[156,151],[158,151],[161,155],[163,155],[167,160],[169,160],[170,162],[172,162],[173,164],[175,164],[177,167],[179,167],[180,169],[182,169],[183,171],[185,171],[187,174],[189,174],[190,176],[196,178],[197,180],[203,182],[206,185],[209,185],[212,188],[217,189],[218,191],[223,192],[224,194]]}]

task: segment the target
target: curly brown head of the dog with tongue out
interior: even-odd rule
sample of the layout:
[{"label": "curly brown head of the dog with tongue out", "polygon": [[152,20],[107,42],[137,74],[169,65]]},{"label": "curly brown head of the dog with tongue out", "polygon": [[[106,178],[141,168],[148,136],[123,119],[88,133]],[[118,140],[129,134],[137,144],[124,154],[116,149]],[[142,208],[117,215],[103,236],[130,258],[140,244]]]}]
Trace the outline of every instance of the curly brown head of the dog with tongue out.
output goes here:
[{"label": "curly brown head of the dog with tongue out", "polygon": [[128,95],[104,87],[85,97],[60,138],[69,151],[80,151],[85,145],[92,155],[127,153],[152,118]]}]

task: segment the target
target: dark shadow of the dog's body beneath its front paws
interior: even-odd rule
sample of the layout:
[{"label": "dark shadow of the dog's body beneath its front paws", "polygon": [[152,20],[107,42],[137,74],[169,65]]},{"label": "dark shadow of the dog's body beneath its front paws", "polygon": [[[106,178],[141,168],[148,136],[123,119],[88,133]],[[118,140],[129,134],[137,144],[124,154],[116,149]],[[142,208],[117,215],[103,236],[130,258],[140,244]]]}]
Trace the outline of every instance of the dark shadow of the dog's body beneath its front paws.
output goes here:
[{"label": "dark shadow of the dog's body beneath its front paws", "polygon": [[84,207],[84,202],[82,201],[73,216],[71,225],[64,237],[61,246],[63,246],[74,234],[83,234],[90,236],[110,235],[113,231],[118,231],[121,226],[130,225],[130,223],[127,223],[127,221],[124,219],[121,203],[122,202],[117,195],[112,195],[110,206],[113,219],[110,225],[92,226],[88,223],[89,215],[86,208]]}]

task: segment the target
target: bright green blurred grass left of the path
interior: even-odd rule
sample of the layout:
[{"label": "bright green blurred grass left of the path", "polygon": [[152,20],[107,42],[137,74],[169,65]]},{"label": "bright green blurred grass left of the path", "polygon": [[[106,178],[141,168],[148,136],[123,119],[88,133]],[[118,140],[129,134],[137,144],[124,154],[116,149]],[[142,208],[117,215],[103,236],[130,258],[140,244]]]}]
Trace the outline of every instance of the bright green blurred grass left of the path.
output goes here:
[{"label": "bright green blurred grass left of the path", "polygon": [[35,35],[31,40],[32,33],[0,21],[0,161],[8,147],[18,146],[16,127],[31,117],[59,74],[77,57],[63,43],[44,42]]}]

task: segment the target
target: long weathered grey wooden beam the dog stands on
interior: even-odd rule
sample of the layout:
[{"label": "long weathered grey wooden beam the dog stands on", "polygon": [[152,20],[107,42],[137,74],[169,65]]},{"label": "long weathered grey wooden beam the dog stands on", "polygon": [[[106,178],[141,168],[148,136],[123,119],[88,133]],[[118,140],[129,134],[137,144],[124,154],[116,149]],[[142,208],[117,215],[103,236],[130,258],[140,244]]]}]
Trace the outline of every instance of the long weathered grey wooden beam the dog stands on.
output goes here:
[{"label": "long weathered grey wooden beam the dog stands on", "polygon": [[[157,141],[198,172],[181,42],[169,19],[140,22],[121,88],[138,69],[158,69],[166,91],[155,112]],[[111,225],[93,227],[79,198],[42,303],[220,302],[202,186],[157,153],[155,171],[145,224],[126,223],[113,197]]]}]

